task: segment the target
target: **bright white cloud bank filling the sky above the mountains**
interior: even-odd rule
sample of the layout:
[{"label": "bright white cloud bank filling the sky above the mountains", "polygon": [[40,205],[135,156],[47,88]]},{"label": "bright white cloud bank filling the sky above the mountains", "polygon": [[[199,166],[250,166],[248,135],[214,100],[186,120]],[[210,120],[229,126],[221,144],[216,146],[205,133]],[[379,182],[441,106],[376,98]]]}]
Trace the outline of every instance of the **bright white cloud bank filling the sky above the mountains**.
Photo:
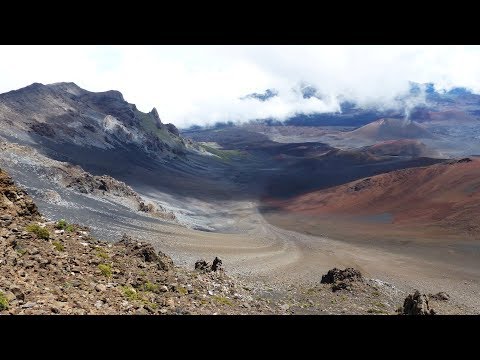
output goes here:
[{"label": "bright white cloud bank filling the sky above the mountains", "polygon": [[[335,111],[339,94],[392,103],[409,80],[480,92],[479,63],[478,46],[0,46],[0,92],[73,81],[185,126]],[[292,92],[301,81],[325,100]],[[268,88],[278,97],[239,99]]]}]

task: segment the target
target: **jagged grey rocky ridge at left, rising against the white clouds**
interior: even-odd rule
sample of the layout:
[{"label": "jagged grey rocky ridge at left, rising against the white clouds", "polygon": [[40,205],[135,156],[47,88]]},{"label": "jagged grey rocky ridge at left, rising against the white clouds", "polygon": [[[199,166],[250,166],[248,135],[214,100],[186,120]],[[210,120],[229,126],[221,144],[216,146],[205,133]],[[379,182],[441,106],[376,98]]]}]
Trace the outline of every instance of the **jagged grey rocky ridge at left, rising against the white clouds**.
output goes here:
[{"label": "jagged grey rocky ridge at left, rising against the white clouds", "polygon": [[143,113],[114,90],[90,92],[74,83],[34,83],[0,94],[0,134],[27,142],[100,149],[135,146],[158,156],[195,148],[172,124],[163,124],[155,108]]}]

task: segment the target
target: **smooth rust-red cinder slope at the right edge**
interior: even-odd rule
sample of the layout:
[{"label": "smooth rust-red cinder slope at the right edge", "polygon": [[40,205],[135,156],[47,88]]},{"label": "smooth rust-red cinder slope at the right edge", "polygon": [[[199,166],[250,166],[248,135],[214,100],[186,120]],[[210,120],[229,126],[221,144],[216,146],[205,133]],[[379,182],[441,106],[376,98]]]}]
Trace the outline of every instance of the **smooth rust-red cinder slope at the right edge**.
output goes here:
[{"label": "smooth rust-red cinder slope at the right edge", "polygon": [[[434,226],[478,236],[480,160],[393,171],[271,205],[297,215]],[[373,220],[375,222],[375,220]],[[380,225],[380,224],[379,224]]]}]

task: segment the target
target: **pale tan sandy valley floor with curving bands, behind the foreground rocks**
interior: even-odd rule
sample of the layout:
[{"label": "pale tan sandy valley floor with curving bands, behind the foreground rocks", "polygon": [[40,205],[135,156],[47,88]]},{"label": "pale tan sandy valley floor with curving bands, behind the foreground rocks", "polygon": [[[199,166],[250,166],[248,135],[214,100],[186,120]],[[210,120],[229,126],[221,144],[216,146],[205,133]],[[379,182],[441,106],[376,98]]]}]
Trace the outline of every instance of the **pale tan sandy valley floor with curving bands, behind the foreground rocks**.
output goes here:
[{"label": "pale tan sandy valley floor with curving bands, behind the foreground rocks", "polygon": [[[236,204],[232,217],[232,233],[153,224],[135,235],[188,267],[201,257],[219,256],[230,273],[285,287],[313,285],[329,269],[351,266],[402,292],[445,291],[468,312],[480,314],[480,262],[463,262],[458,256],[445,262],[436,258],[438,249],[432,245],[399,248],[356,244],[282,229],[267,222],[254,203]],[[131,229],[128,232],[132,233]]]}]

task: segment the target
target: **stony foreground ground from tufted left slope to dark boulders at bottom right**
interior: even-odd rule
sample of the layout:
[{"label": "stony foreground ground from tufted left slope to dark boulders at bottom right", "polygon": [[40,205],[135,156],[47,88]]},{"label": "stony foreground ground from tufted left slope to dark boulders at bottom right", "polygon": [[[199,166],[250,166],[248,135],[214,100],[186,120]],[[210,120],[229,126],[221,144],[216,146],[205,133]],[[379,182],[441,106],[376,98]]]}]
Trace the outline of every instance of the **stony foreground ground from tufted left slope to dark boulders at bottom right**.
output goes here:
[{"label": "stony foreground ground from tufted left slope to dark boulders at bottom right", "polygon": [[443,313],[461,310],[443,305],[446,294],[414,294],[404,307],[399,296],[354,269],[333,269],[313,287],[274,289],[227,276],[218,258],[176,267],[127,235],[107,243],[85,227],[46,221],[0,170],[0,314],[430,314],[435,301]]}]

